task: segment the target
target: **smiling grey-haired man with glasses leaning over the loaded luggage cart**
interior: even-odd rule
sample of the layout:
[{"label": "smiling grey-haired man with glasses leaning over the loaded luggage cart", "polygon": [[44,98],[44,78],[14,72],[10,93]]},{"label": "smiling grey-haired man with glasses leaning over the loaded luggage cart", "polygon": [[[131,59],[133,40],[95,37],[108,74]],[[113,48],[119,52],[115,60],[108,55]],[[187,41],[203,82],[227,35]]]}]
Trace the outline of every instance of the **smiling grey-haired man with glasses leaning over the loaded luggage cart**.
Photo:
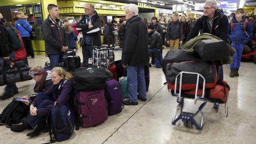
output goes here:
[{"label": "smiling grey-haired man with glasses leaning over the loaded luggage cart", "polygon": [[199,30],[202,30],[202,33],[213,34],[226,42],[228,36],[228,17],[216,10],[216,8],[217,2],[215,0],[207,0],[204,3],[204,15],[196,21],[188,34],[187,41],[198,36]]}]

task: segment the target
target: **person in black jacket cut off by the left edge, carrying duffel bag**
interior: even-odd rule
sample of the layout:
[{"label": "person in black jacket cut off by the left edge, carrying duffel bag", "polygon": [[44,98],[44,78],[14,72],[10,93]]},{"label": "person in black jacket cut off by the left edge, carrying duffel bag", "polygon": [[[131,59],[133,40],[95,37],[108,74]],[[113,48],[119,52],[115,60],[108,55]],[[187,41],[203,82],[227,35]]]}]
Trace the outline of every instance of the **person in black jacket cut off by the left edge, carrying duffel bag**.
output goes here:
[{"label": "person in black jacket cut off by the left edge, carrying duffel bag", "polygon": [[[0,13],[0,70],[4,67],[4,64],[10,65],[10,60],[14,60],[14,51],[11,45],[10,37],[5,29],[3,22],[1,21],[3,18]],[[6,62],[4,62],[6,61]],[[14,94],[18,93],[18,88],[16,83],[7,84],[4,89],[4,94],[0,96],[1,100],[11,98]]]}]

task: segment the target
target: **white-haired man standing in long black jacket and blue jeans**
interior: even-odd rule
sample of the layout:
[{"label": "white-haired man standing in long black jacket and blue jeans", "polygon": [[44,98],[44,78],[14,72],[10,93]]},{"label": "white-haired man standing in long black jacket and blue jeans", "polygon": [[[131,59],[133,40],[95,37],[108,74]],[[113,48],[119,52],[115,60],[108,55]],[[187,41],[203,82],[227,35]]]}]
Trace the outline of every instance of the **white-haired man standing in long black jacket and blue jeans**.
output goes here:
[{"label": "white-haired man standing in long black jacket and blue jeans", "polygon": [[[138,105],[138,99],[146,101],[144,64],[148,64],[147,27],[138,16],[135,4],[125,6],[126,31],[122,49],[122,64],[127,67],[128,100],[124,105]],[[137,90],[139,96],[137,98]]]}]

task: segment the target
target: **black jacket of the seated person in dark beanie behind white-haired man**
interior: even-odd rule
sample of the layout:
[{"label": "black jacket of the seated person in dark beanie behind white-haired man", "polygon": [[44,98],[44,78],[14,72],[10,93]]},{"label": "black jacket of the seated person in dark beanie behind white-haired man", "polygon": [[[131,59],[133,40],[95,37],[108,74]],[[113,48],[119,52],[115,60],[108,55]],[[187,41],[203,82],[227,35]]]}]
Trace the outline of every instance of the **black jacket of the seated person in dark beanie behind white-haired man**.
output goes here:
[{"label": "black jacket of the seated person in dark beanie behind white-haired man", "polygon": [[162,48],[162,36],[156,31],[153,30],[148,34],[149,36],[149,46],[148,49],[156,48],[161,49]]}]

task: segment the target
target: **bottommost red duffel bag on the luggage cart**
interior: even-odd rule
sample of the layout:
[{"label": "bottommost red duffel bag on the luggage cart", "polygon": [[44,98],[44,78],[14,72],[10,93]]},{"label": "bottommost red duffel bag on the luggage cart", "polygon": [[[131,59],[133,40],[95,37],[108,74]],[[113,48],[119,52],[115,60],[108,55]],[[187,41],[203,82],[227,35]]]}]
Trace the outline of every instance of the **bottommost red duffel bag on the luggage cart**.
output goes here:
[{"label": "bottommost red duffel bag on the luggage cart", "polygon": [[[229,90],[230,87],[226,81],[218,80],[214,88],[206,88],[204,97],[212,102],[226,103],[228,101]],[[196,90],[184,90],[181,92],[181,96],[186,98],[194,98],[195,94]],[[198,88],[197,95],[202,96],[202,88]]]}]

